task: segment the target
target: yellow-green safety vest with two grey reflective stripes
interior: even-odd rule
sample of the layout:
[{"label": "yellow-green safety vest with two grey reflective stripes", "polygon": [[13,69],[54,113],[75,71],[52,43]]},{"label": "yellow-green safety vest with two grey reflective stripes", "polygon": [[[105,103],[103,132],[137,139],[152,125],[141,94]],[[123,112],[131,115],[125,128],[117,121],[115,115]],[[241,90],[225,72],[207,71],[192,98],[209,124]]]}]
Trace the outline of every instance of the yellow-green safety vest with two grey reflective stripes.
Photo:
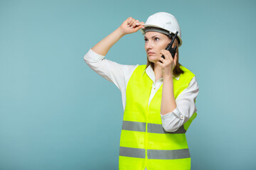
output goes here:
[{"label": "yellow-green safety vest with two grey reflective stripes", "polygon": [[[174,98],[188,87],[195,76],[180,66],[184,74],[174,81]],[[127,101],[119,147],[119,170],[185,170],[191,169],[191,156],[185,132],[196,118],[191,118],[176,132],[166,132],[161,123],[162,85],[149,104],[153,81],[139,65],[127,84]]]}]

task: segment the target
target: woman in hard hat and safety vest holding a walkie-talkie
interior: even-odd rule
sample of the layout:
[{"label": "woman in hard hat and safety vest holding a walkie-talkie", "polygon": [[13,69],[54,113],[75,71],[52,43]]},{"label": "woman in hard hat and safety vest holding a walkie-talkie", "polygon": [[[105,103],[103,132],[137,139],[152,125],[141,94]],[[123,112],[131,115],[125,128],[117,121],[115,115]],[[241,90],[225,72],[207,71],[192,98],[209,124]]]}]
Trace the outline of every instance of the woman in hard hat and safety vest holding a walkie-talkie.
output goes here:
[{"label": "woman in hard hat and safety vest holding a walkie-talkie", "polygon": [[[137,30],[144,35],[146,65],[124,65],[105,59],[115,42]],[[173,58],[165,48],[176,31]],[[89,67],[122,92],[124,121],[119,169],[191,168],[185,132],[196,118],[199,89],[195,75],[178,63],[181,44],[176,18],[159,12],[149,16],[146,23],[127,18],[84,57]]]}]

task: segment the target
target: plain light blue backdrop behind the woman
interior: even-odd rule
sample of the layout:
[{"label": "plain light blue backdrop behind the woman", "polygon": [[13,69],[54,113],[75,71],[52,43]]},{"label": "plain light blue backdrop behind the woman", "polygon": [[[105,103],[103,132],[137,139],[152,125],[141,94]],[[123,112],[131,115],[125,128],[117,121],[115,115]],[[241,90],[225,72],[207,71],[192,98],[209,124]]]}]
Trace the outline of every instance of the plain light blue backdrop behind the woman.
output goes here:
[{"label": "plain light blue backdrop behind the woman", "polygon": [[[0,170],[118,169],[121,93],[83,60],[129,16],[166,11],[196,74],[191,169],[255,169],[256,1],[0,1]],[[146,64],[142,33],[106,58]]]}]

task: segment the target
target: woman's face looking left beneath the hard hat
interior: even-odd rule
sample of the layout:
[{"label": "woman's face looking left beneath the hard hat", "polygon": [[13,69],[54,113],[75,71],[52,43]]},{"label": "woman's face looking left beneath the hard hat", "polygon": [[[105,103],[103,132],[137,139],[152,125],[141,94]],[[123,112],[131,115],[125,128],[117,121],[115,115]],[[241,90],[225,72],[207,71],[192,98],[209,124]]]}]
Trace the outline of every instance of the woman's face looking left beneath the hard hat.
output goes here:
[{"label": "woman's face looking left beneath the hard hat", "polygon": [[149,62],[158,62],[161,57],[161,50],[166,49],[171,40],[162,33],[149,31],[144,36],[146,56]]}]

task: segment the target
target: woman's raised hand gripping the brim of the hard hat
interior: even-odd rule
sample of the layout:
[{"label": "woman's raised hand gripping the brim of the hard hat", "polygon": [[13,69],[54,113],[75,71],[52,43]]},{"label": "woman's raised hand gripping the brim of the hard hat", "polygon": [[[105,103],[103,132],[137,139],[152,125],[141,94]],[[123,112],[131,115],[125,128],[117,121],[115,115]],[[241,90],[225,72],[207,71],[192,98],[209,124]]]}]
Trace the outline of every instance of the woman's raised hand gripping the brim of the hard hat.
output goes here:
[{"label": "woman's raised hand gripping the brim of the hard hat", "polygon": [[122,25],[119,27],[124,35],[135,33],[137,30],[144,27],[144,22],[139,22],[132,17],[127,18]]}]

